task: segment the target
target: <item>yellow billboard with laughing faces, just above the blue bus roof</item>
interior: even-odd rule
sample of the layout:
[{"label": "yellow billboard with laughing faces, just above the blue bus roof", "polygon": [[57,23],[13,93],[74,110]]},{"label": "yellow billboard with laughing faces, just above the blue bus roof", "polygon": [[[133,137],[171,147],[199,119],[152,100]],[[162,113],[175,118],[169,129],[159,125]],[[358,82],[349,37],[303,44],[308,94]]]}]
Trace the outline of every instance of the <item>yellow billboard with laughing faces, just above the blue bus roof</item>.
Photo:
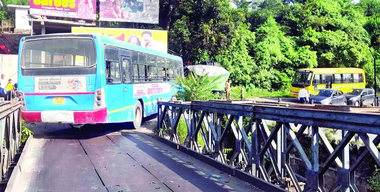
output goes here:
[{"label": "yellow billboard with laughing faces, just above the blue bus roof", "polygon": [[95,33],[160,52],[168,52],[167,31],[128,28],[71,27],[71,33]]}]

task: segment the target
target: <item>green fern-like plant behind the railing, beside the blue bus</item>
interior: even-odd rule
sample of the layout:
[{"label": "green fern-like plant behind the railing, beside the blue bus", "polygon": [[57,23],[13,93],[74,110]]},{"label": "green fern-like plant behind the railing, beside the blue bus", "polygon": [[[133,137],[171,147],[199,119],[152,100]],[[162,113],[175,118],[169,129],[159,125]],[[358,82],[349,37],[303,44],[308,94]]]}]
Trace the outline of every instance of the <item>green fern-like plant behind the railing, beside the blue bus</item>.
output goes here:
[{"label": "green fern-like plant behind the railing, beside the blue bus", "polygon": [[177,98],[185,101],[216,99],[217,95],[212,90],[221,82],[221,77],[211,77],[207,74],[199,76],[190,73],[187,77],[177,77],[172,84],[177,88]]}]

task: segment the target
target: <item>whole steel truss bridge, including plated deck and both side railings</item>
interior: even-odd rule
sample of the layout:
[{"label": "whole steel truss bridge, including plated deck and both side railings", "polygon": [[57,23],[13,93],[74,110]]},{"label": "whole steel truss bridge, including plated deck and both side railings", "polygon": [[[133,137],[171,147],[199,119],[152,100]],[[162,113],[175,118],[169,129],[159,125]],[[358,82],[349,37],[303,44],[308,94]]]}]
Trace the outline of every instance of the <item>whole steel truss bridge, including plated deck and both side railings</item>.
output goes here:
[{"label": "whole steel truss bridge, including plated deck and both side railings", "polygon": [[[369,156],[380,165],[376,107],[158,102],[154,134],[102,125],[81,134],[63,129],[58,136],[31,136],[25,146],[20,142],[21,107],[20,102],[0,104],[1,183],[6,183],[7,192],[359,192],[357,168]],[[269,127],[268,120],[275,125]],[[185,135],[179,124],[185,124]],[[336,147],[325,128],[342,131]],[[307,130],[311,156],[300,141]],[[234,142],[228,143],[231,137]],[[351,140],[358,144],[360,140],[363,150],[350,163]],[[323,162],[319,142],[328,151]],[[226,156],[231,143],[231,155]],[[305,173],[294,172],[291,151],[305,164]],[[338,168],[339,179],[328,188],[325,173],[332,165]]]}]

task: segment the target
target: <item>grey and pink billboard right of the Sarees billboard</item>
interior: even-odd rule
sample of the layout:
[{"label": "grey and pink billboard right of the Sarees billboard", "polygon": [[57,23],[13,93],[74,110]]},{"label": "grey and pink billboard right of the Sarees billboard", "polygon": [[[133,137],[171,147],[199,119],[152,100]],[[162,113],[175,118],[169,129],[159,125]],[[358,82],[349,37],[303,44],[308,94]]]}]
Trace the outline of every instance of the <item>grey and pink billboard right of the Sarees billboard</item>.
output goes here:
[{"label": "grey and pink billboard right of the Sarees billboard", "polygon": [[159,0],[100,0],[99,19],[158,24]]}]

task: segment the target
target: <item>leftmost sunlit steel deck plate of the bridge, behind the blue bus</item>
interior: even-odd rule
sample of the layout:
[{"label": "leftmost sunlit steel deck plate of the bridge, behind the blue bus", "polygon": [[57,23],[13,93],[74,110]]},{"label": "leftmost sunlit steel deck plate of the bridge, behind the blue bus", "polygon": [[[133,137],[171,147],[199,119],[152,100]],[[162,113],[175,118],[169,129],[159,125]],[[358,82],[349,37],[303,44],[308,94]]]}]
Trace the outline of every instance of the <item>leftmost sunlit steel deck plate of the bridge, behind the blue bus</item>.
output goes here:
[{"label": "leftmost sunlit steel deck plate of the bridge, behind the blue bus", "polygon": [[104,191],[79,141],[33,138],[30,144],[13,191]]}]

